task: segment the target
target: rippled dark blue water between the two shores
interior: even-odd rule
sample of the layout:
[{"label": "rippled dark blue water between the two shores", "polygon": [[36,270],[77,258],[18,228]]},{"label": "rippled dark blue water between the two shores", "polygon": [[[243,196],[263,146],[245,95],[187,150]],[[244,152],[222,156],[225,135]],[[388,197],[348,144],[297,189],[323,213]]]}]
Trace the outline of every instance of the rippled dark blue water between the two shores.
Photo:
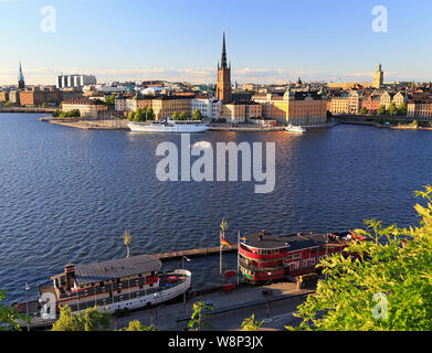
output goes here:
[{"label": "rippled dark blue water between the two shores", "polygon": [[[361,227],[377,218],[418,224],[414,190],[432,183],[432,133],[340,125],[303,136],[207,132],[192,142],[275,141],[276,186],[254,182],[160,182],[155,156],[177,135],[86,131],[40,122],[38,115],[0,115],[0,288],[7,302],[24,297],[63,266],[131,254],[217,246],[225,217],[236,231],[274,233]],[[235,268],[226,256],[225,268]],[[165,264],[178,268],[181,261]],[[186,263],[193,286],[218,282],[219,257]]]}]

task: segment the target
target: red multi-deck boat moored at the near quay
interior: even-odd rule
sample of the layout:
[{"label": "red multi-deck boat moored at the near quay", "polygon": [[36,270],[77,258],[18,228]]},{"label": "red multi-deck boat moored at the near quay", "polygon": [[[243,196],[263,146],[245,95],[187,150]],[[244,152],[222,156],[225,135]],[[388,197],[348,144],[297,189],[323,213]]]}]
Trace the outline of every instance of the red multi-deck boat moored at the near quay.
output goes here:
[{"label": "red multi-deck boat moored at the near quay", "polygon": [[281,236],[265,231],[251,233],[240,238],[239,267],[251,282],[282,280],[287,276],[315,271],[322,258],[335,253],[344,254],[349,239],[349,236],[317,233]]}]

